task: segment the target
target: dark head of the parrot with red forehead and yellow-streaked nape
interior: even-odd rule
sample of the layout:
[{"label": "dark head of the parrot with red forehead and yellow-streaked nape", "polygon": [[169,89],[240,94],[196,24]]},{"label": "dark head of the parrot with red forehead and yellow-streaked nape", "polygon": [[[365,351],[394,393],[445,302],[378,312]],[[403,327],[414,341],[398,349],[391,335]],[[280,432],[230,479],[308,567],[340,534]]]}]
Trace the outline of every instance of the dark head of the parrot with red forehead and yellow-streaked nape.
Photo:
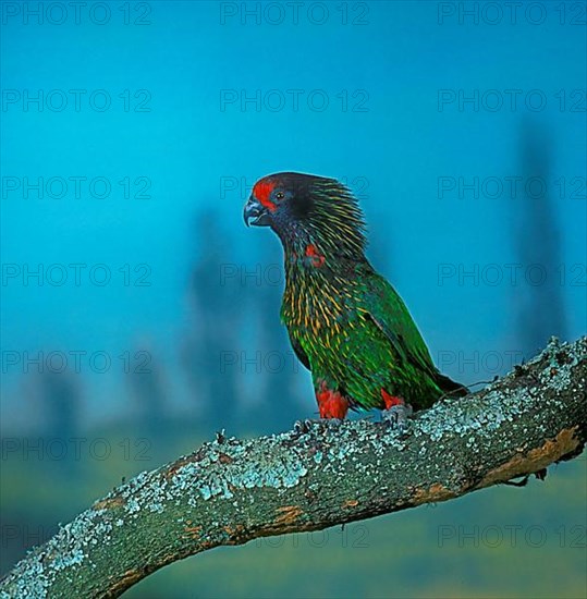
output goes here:
[{"label": "dark head of the parrot with red forehead and yellow-streaked nape", "polygon": [[357,200],[334,179],[283,172],[255,183],[245,204],[248,227],[270,227],[283,245],[316,243],[330,254],[363,255],[365,222]]}]

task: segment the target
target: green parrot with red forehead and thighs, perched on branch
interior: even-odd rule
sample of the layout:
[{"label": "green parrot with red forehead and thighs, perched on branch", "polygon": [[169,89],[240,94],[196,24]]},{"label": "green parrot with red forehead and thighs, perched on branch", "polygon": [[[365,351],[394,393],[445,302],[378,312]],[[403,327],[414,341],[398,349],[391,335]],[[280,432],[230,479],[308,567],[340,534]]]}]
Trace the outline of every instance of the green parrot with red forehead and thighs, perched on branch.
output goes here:
[{"label": "green parrot with red forehead and thighs, perched on branch", "polygon": [[283,246],[281,321],[311,372],[321,419],[342,420],[348,409],[409,415],[467,394],[435,366],[403,300],[366,258],[366,222],[346,185],[270,174],[253,186],[243,216]]}]

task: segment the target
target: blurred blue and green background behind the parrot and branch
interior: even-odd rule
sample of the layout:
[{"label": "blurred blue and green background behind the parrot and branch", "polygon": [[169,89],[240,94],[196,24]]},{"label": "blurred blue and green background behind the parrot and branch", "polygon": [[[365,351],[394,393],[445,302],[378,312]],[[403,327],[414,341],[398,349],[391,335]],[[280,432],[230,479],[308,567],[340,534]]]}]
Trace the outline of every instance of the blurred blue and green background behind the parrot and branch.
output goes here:
[{"label": "blurred blue and green background behind the parrot and branch", "polygon": [[[304,3],[297,22],[289,3],[106,4],[109,15],[96,8],[93,19],[86,7],[78,23],[70,7],[62,24],[58,8],[39,23],[27,3],[2,4],[3,570],[37,542],[28,527],[45,538],[121,476],[191,451],[218,428],[284,430],[315,412],[279,323],[281,248],[242,221],[265,174],[347,182],[369,223],[369,257],[453,378],[488,380],[551,334],[585,334],[584,4],[536,3],[511,19],[505,4],[484,2],[318,2]],[[78,109],[70,89],[85,90]],[[297,109],[291,89],[301,90]],[[521,90],[515,109],[512,89]],[[96,108],[103,95],[90,103],[95,90],[108,94],[107,110]],[[39,93],[40,106],[25,100]],[[458,101],[475,95],[477,106]],[[63,197],[59,182],[44,197],[23,191],[25,178],[71,176],[87,178],[78,198],[71,182]],[[514,196],[512,176],[522,178]],[[89,192],[94,178],[109,181],[107,197]],[[460,194],[460,178],[477,178],[479,194]],[[537,197],[525,190],[530,178],[545,184]],[[137,197],[144,181],[148,197]],[[456,188],[441,193],[441,181]],[[74,262],[87,265],[78,285]],[[42,284],[25,265],[41,265]],[[95,265],[110,282],[89,277]],[[42,364],[25,366],[25,353],[39,352]],[[51,352],[69,356],[63,372],[47,364]],[[101,362],[82,357],[76,369],[71,352],[99,352],[110,365],[99,372]],[[106,439],[111,453],[76,460],[72,437],[86,448]],[[44,449],[32,453],[27,440],[39,439]],[[51,455],[49,439],[61,439],[64,457]],[[366,547],[330,530],[321,546],[302,536],[279,550],[212,552],[166,569],[136,596],[585,595],[585,536],[564,551],[554,536],[561,526],[584,534],[585,475],[583,457],[524,491],[491,489],[351,527],[357,538],[367,531]],[[63,488],[40,503],[28,498],[30,478],[42,487],[56,476]],[[546,527],[548,542],[439,546],[440,525],[484,517]],[[553,560],[564,570],[555,590],[540,575]],[[259,584],[261,561],[274,567]],[[239,574],[227,578],[224,569]],[[314,582],[296,587],[308,569]]]}]

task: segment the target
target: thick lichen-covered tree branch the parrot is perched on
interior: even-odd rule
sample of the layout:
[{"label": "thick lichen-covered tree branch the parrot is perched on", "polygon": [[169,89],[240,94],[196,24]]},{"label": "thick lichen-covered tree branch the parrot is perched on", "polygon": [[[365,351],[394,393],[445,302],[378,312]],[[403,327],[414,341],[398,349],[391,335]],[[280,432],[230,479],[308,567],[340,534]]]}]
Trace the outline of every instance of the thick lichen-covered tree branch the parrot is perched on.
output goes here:
[{"label": "thick lichen-covered tree branch the parrot is perched on", "polygon": [[0,597],[117,597],[220,545],[317,530],[541,473],[587,435],[587,338],[462,400],[384,423],[316,423],[248,441],[218,436],[117,488],[35,549]]}]

